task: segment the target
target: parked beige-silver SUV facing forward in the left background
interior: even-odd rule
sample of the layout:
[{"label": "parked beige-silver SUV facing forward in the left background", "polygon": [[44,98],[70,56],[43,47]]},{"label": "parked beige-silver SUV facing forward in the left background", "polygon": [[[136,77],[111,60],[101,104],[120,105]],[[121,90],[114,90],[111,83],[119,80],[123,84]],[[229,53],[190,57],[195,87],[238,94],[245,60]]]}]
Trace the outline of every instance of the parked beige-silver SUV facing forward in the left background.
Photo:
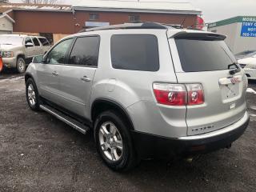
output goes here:
[{"label": "parked beige-silver SUV facing forward in the left background", "polygon": [[50,49],[50,43],[44,37],[22,34],[1,34],[0,54],[3,66],[16,68],[18,73],[26,71],[35,55],[45,54]]}]

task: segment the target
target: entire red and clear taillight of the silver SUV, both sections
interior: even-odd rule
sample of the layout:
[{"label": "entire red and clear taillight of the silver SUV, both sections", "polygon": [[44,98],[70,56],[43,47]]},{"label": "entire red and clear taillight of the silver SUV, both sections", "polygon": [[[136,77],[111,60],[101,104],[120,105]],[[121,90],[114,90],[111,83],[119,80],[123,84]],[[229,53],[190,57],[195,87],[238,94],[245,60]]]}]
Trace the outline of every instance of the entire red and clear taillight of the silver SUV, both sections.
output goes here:
[{"label": "entire red and clear taillight of the silver SUV, both sections", "polygon": [[204,103],[200,84],[169,84],[155,82],[154,95],[158,103],[168,106],[193,106]]}]

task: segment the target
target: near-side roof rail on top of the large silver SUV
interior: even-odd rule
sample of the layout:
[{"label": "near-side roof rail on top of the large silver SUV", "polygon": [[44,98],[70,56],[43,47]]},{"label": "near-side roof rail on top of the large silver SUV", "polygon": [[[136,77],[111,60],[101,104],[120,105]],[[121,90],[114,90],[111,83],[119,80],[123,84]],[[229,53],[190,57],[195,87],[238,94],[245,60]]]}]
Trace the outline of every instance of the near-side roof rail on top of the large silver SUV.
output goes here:
[{"label": "near-side roof rail on top of the large silver SUV", "polygon": [[95,31],[95,30],[118,30],[118,29],[162,29],[167,30],[170,26],[162,25],[158,22],[141,22],[141,23],[124,23],[120,25],[113,25],[113,26],[99,26],[93,27],[90,29],[85,29],[79,31],[80,33],[86,31]]}]

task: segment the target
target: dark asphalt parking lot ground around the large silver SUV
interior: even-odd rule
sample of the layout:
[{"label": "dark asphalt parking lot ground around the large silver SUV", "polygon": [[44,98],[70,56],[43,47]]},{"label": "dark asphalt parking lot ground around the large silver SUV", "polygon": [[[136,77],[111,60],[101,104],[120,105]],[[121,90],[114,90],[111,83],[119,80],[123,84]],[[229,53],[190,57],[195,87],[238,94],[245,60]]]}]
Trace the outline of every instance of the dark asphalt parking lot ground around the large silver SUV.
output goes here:
[{"label": "dark asphalt parking lot ground around the large silver SUV", "polygon": [[[256,82],[250,82],[256,90]],[[0,74],[0,191],[255,191],[256,92],[250,125],[230,150],[197,161],[143,161],[129,173],[109,170],[93,137],[26,105],[22,75]]]}]

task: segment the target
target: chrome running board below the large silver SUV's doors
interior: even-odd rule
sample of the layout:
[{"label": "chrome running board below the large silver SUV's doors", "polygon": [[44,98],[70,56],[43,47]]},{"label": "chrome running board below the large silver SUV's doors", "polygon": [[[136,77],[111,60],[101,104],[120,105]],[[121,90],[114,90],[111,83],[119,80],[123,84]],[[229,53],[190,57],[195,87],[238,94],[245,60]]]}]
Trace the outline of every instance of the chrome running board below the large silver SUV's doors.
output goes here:
[{"label": "chrome running board below the large silver SUV's doors", "polygon": [[86,132],[90,129],[88,126],[83,125],[81,122],[74,120],[74,118],[70,118],[66,114],[55,110],[51,106],[40,105],[42,110],[45,110],[47,113],[54,115],[55,118],[58,118],[62,122],[65,122],[67,125],[73,127],[75,130],[78,130],[82,134],[86,134]]}]

